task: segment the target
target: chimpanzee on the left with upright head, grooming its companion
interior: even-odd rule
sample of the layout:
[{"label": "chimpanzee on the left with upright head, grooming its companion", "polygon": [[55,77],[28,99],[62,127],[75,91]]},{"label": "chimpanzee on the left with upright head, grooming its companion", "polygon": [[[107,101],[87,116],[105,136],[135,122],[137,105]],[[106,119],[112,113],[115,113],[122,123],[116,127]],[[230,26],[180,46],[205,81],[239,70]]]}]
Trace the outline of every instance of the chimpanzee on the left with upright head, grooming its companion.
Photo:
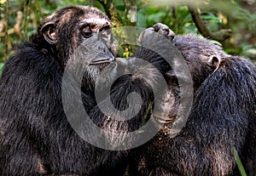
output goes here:
[{"label": "chimpanzee on the left with upright head, grooming its companion", "polygon": [[[154,29],[161,33],[165,31],[159,30],[161,27],[158,24]],[[47,17],[38,28],[38,34],[15,49],[0,81],[0,175],[122,175],[125,151],[104,150],[90,145],[70,124],[75,122],[83,128],[83,122],[91,120],[98,127],[117,128],[117,133],[119,128],[126,130],[125,122],[117,127],[118,124],[100,111],[94,94],[96,78],[101,71],[113,66],[106,75],[108,79],[115,71],[123,70],[114,59],[110,28],[108,17],[99,9],[67,7]],[[170,37],[172,32],[167,30],[163,35]],[[160,48],[163,52],[170,50],[167,45],[158,47],[161,44],[158,40],[152,43],[153,48]],[[170,66],[160,60],[159,54],[150,49],[140,51],[134,57],[147,59],[160,69],[160,73],[170,70]],[[131,124],[139,127],[143,120],[138,119],[146,116],[148,107],[153,105],[152,88],[158,85],[159,76],[147,69],[147,65],[140,68],[137,60],[131,64],[135,72],[119,77],[112,86],[111,97],[114,107],[122,109],[127,105],[128,94],[141,94],[143,107],[131,120]],[[75,86],[79,82],[75,79],[77,77],[68,76],[68,71],[64,77],[64,73],[66,68],[73,68],[77,74],[80,67],[84,74],[78,88]],[[63,92],[63,84],[70,89]],[[73,99],[65,102],[65,110],[63,97]],[[84,115],[74,111],[80,97],[90,119],[73,119]],[[101,105],[104,105],[104,99]],[[67,119],[67,114],[70,119]],[[106,126],[108,124],[112,126]],[[83,135],[95,139],[93,132]],[[104,135],[102,141],[109,142]]]}]

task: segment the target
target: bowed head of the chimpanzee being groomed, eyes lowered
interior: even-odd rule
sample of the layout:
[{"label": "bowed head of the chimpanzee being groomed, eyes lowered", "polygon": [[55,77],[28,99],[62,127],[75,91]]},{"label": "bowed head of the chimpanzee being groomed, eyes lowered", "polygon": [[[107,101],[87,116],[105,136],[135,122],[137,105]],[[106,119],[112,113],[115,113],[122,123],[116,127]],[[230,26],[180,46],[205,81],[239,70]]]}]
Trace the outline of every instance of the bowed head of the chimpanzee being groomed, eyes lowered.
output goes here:
[{"label": "bowed head of the chimpanzee being groomed, eyes lowered", "polygon": [[[164,96],[161,97],[162,103],[155,105],[156,110],[154,111],[154,117],[158,122],[171,123],[171,125],[165,126],[163,129],[165,133],[170,133],[172,122],[177,122],[180,114],[183,111],[188,111],[188,107],[185,107],[186,105],[181,98],[182,94],[189,94],[182,91],[181,88],[183,88],[183,85],[193,83],[195,97],[198,88],[201,87],[201,84],[207,77],[218,70],[222,60],[229,58],[229,55],[225,54],[221,47],[206,38],[201,38],[194,34],[176,36],[172,40],[172,43],[183,55],[193,82],[189,82],[186,75],[179,72],[178,69],[176,71],[170,70],[166,72],[168,89]],[[167,117],[164,115],[166,110],[168,110]]]}]

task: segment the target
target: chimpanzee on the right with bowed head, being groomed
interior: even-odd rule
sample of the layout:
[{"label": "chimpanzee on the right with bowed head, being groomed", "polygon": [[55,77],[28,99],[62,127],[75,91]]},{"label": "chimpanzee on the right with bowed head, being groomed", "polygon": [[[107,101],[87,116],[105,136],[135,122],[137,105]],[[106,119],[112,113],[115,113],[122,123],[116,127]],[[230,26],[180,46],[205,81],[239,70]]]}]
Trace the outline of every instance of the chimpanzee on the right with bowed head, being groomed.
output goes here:
[{"label": "chimpanzee on the right with bowed head, being groomed", "polygon": [[[182,106],[175,72],[168,71],[170,99],[154,113],[164,127],[134,151],[134,175],[240,175],[234,150],[248,175],[256,174],[256,68],[241,56],[224,54],[207,39],[187,34],[172,41],[187,61],[195,99],[189,118],[176,136],[173,123]],[[181,78],[182,79],[182,78]],[[163,98],[165,99],[165,98]],[[170,116],[161,116],[169,108]],[[132,169],[131,169],[132,170]],[[134,170],[133,170],[134,172]]]}]

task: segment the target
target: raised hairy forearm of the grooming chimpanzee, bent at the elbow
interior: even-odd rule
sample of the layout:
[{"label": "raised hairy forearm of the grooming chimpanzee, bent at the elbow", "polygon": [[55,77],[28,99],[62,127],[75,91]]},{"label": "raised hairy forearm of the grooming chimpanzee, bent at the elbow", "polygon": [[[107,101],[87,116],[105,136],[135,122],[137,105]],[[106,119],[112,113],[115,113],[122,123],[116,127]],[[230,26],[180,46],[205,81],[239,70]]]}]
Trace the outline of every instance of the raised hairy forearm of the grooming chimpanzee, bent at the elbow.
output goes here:
[{"label": "raised hairy forearm of the grooming chimpanzee, bent at the elbow", "polygon": [[[165,39],[151,33],[143,36],[143,46],[137,48],[128,61],[124,75],[113,83],[110,97],[90,111],[93,122],[104,130],[122,133],[122,137],[148,122],[154,98],[160,96],[166,85],[162,74],[171,69],[172,43]],[[170,44],[163,44],[163,40]],[[117,145],[116,141],[119,141],[113,133],[107,138],[111,140],[110,144]],[[122,142],[119,141],[119,145]]]}]

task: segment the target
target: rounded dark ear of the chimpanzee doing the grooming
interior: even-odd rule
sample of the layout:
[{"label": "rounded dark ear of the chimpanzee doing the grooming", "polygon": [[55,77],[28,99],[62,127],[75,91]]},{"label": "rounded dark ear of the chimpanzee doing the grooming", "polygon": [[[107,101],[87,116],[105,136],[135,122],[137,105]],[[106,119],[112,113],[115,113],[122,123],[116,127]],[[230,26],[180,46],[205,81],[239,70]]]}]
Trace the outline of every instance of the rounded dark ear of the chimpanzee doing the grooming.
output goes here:
[{"label": "rounded dark ear of the chimpanzee doing the grooming", "polygon": [[55,44],[57,42],[57,33],[55,31],[55,23],[48,22],[41,27],[41,31],[44,35],[44,39],[49,44]]}]

